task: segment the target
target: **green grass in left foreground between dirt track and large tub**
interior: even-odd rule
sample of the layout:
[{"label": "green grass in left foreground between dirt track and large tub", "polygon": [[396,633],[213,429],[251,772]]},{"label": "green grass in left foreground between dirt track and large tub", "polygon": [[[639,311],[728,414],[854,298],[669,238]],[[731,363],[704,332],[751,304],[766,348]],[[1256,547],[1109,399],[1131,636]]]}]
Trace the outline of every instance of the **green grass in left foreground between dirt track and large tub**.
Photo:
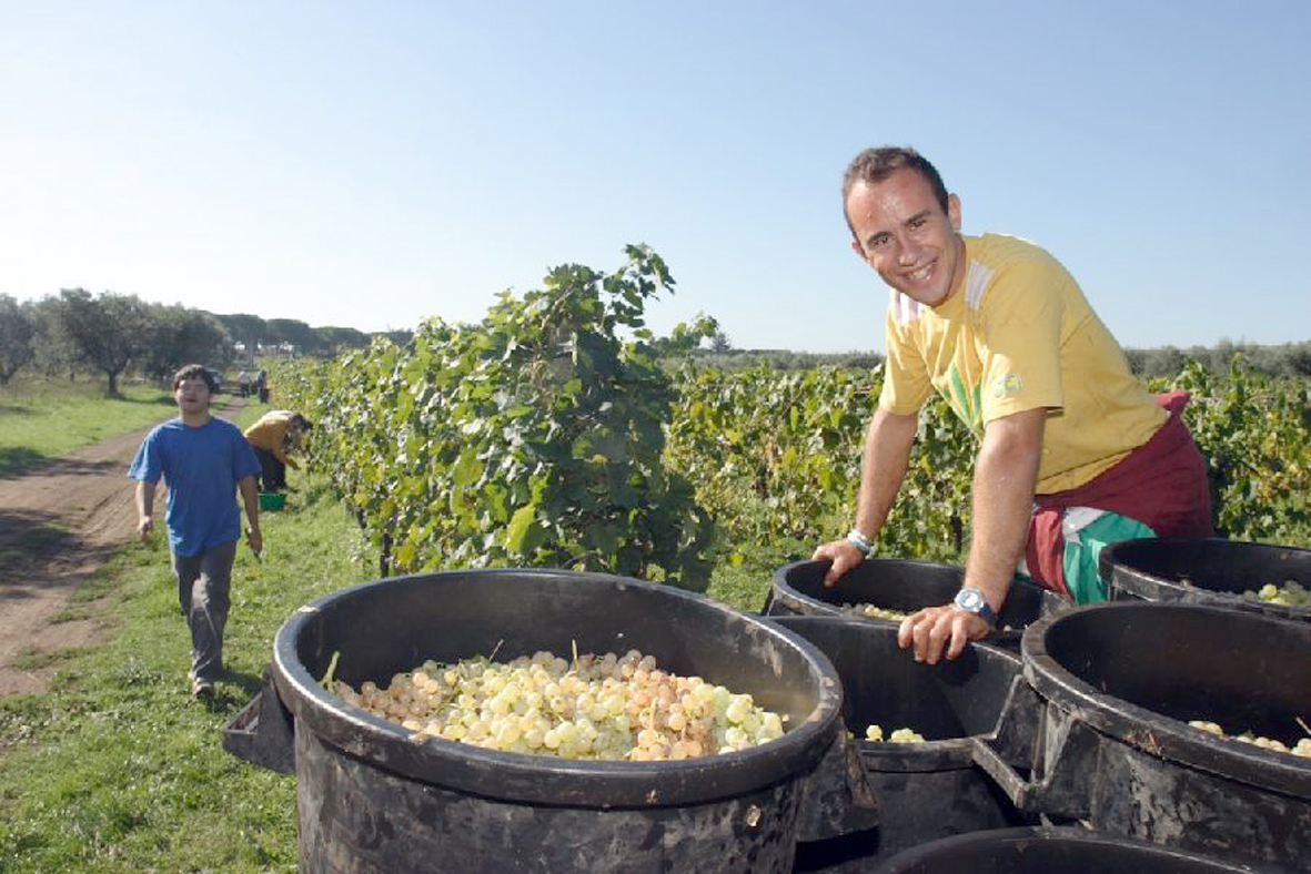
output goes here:
[{"label": "green grass in left foreground between dirt track and large tub", "polygon": [[190,643],[161,537],[125,548],[90,584],[83,604],[111,622],[109,642],[59,656],[49,693],[0,701],[0,870],[296,869],[295,780],[220,740],[260,689],[282,621],[376,567],[341,506],[302,485],[286,510],[262,515],[264,561],[239,550],[229,677],[212,704],[189,694]]}]

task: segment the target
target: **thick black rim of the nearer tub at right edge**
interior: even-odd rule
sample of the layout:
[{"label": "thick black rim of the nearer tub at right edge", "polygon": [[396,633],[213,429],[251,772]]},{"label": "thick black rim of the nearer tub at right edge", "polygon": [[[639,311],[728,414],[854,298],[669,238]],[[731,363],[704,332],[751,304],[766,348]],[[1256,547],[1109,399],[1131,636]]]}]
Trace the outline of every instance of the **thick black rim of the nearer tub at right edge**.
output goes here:
[{"label": "thick black rim of the nearer tub at right edge", "polygon": [[1260,789],[1273,789],[1299,798],[1311,798],[1311,759],[1264,750],[1234,738],[1222,738],[1158,710],[1101,692],[1075,676],[1047,653],[1046,633],[1055,622],[1074,620],[1091,611],[1106,616],[1125,612],[1129,618],[1141,611],[1188,611],[1222,617],[1245,616],[1248,621],[1290,624],[1287,620],[1256,613],[1235,613],[1224,607],[1202,604],[1160,604],[1147,601],[1105,603],[1078,607],[1030,625],[1023,639],[1024,679],[1045,700],[1062,710],[1076,710],[1080,721],[1097,731],[1160,759],[1198,768]]}]

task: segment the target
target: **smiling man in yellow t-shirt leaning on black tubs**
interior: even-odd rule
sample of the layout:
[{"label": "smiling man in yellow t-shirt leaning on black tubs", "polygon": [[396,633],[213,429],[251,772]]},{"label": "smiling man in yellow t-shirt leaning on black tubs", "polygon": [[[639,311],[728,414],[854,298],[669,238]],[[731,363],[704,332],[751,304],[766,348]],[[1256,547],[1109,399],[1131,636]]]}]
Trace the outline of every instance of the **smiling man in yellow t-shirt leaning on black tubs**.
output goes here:
[{"label": "smiling man in yellow t-shirt leaning on black tubs", "polygon": [[935,390],[981,444],[961,592],[898,632],[916,660],[956,658],[987,634],[1017,574],[1080,604],[1105,600],[1103,545],[1213,533],[1188,394],[1147,393],[1055,258],[1017,237],[961,235],[960,198],[914,149],[861,152],[842,195],[851,248],[891,300],[856,523],[814,553],[832,560],[829,584],[873,549]]}]

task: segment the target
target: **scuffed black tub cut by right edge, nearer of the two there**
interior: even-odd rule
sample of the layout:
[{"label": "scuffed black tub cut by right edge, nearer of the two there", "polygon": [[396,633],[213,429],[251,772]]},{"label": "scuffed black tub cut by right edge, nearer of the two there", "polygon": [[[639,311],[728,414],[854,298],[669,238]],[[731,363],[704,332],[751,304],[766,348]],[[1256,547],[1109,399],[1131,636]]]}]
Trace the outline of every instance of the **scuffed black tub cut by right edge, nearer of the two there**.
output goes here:
[{"label": "scuffed black tub cut by right edge, nearer of the two there", "polygon": [[[1311,713],[1311,625],[1218,607],[1122,601],[1040,620],[1024,672],[1041,705],[1030,769],[977,746],[1021,810],[1188,850],[1311,866],[1311,759],[1207,734],[1285,743]],[[1012,748],[1013,751],[1013,748]]]}]

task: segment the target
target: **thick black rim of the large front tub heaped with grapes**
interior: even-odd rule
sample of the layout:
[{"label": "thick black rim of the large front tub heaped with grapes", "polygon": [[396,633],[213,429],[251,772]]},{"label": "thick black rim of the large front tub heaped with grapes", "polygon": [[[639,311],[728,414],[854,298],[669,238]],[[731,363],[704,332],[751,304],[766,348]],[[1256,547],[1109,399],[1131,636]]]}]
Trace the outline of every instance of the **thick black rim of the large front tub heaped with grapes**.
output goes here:
[{"label": "thick black rim of the large front tub heaped with grapes", "polygon": [[[302,664],[296,639],[302,629],[329,605],[367,598],[384,586],[402,584],[442,575],[505,575],[585,578],[593,583],[659,592],[662,598],[696,601],[746,620],[749,636],[776,638],[800,651],[817,702],[809,715],[785,723],[781,738],[747,750],[711,753],[678,761],[599,761],[502,752],[446,738],[412,740],[413,732],[400,723],[376,717],[325,689]],[[777,666],[775,666],[777,672]],[[538,805],[585,807],[653,807],[713,802],[760,789],[768,782],[758,777],[762,765],[772,763],[780,772],[802,774],[812,769],[838,738],[842,710],[842,684],[836,671],[814,645],[788,629],[751,617],[725,604],[673,586],[650,583],[611,574],[555,569],[469,569],[408,574],[358,583],[324,595],[296,609],[274,637],[274,677],[279,697],[298,721],[337,750],[389,770],[475,795]],[[389,677],[388,677],[389,679]],[[568,789],[561,789],[568,786]]]}]

